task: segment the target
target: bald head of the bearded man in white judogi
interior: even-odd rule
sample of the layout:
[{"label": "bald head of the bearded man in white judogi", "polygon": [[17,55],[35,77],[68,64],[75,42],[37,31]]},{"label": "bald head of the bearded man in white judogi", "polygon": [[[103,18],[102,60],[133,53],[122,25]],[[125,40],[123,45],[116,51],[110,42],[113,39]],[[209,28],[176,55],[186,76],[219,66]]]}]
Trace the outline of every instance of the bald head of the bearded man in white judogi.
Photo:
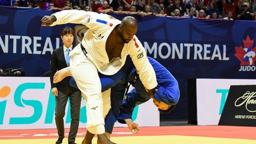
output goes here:
[{"label": "bald head of the bearded man in white judogi", "polygon": [[129,43],[137,33],[137,20],[134,17],[124,17],[119,25],[119,34],[124,43]]}]

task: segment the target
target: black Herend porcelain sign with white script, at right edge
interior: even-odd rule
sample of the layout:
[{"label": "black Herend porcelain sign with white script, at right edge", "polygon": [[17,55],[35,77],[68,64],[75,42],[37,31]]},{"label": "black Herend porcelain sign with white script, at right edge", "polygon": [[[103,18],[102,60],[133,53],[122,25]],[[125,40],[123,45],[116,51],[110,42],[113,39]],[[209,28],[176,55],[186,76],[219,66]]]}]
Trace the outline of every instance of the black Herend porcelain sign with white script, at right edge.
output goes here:
[{"label": "black Herend porcelain sign with white script, at right edge", "polygon": [[231,85],[219,125],[256,126],[256,85]]}]

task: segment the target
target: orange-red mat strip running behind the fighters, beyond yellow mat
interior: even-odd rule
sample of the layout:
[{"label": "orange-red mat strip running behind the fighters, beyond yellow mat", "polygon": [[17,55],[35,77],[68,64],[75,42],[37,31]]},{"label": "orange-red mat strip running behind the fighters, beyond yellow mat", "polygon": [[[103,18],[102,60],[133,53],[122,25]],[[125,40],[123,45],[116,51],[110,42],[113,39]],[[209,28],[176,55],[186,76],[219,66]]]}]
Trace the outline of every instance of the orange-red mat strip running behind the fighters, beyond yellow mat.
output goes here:
[{"label": "orange-red mat strip running behind the fighters, beyond yellow mat", "polygon": [[[69,129],[65,130],[68,135]],[[86,129],[79,129],[77,137],[84,137]],[[242,126],[165,126],[140,127],[139,133],[133,135],[127,127],[115,127],[112,136],[203,136],[232,139],[256,140],[256,127]],[[66,136],[68,137],[68,136]],[[57,138],[56,129],[0,130],[0,139],[50,139]]]}]

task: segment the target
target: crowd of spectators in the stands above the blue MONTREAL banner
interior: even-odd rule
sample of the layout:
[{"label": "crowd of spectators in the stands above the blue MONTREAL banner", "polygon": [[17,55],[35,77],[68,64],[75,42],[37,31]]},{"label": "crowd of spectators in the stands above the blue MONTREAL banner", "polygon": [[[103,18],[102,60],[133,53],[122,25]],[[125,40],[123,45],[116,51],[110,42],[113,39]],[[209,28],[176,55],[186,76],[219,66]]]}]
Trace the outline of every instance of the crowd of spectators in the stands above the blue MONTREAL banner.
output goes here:
[{"label": "crowd of spectators in the stands above the blue MONTREAL banner", "polygon": [[0,0],[0,5],[159,17],[256,20],[256,0]]}]

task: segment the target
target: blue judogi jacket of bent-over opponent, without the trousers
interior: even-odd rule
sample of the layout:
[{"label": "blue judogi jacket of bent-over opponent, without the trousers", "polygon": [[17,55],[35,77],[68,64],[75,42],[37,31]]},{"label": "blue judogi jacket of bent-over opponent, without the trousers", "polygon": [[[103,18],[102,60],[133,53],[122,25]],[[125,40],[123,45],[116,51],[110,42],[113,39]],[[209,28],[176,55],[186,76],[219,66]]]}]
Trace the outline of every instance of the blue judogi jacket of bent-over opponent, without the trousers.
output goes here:
[{"label": "blue judogi jacket of bent-over opponent, without the trousers", "polygon": [[[158,85],[156,86],[157,91],[153,94],[153,97],[165,104],[176,105],[180,98],[180,89],[178,88],[177,80],[155,59],[152,59],[151,57],[148,57],[148,59],[155,70],[156,81],[158,82]],[[129,81],[131,81],[132,77],[133,76],[131,75],[129,76]],[[118,117],[120,123],[125,123],[124,119],[132,119],[132,112],[136,105],[145,103],[151,99],[140,79],[136,80],[133,87],[134,89],[124,97],[123,104],[120,107]]]}]

